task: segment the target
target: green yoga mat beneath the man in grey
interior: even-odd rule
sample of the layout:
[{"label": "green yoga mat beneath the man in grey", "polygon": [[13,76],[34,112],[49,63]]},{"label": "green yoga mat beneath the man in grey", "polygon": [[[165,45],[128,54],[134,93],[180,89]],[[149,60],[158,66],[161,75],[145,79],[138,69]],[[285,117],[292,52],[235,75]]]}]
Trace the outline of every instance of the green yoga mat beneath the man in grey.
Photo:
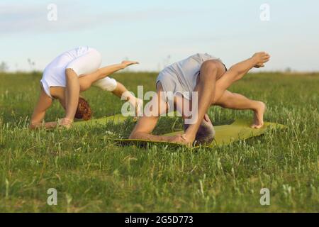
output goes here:
[{"label": "green yoga mat beneath the man in grey", "polygon": [[[264,123],[264,126],[259,129],[250,128],[251,120],[237,119],[230,125],[215,126],[216,138],[213,143],[209,145],[203,145],[202,147],[213,148],[216,145],[228,145],[238,140],[247,140],[255,136],[262,135],[266,133],[271,128],[285,128],[284,125],[279,123]],[[181,134],[183,131],[169,133],[165,135],[177,135]],[[150,141],[150,140],[129,140],[129,139],[108,139],[110,141],[116,142],[120,145],[138,145],[145,146],[147,143],[159,144],[159,145],[175,145],[181,146],[177,143],[160,142],[160,141]],[[198,148],[195,146],[194,148]]]}]

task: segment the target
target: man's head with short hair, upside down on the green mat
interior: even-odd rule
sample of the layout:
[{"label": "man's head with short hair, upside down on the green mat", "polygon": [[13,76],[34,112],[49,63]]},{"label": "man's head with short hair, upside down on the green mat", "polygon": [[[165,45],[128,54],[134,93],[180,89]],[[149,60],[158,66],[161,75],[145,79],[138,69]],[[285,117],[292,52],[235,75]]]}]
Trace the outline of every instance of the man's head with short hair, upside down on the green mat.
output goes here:
[{"label": "man's head with short hair, upside down on the green mat", "polygon": [[[189,128],[189,125],[184,125],[184,130]],[[205,114],[203,121],[201,122],[201,126],[199,126],[198,131],[196,133],[196,143],[198,144],[209,144],[213,142],[215,138],[216,131],[213,127],[213,123],[211,123],[211,119],[208,117],[208,114]]]}]

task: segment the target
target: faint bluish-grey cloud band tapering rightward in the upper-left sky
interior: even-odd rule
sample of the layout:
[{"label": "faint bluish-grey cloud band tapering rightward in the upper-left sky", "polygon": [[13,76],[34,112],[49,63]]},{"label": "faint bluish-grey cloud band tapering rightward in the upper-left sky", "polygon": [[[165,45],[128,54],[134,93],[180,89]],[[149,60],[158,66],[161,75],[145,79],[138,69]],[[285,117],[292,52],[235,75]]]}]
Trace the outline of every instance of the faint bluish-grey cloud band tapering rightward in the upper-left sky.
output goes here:
[{"label": "faint bluish-grey cloud band tapering rightward in the upper-left sky", "polygon": [[81,7],[78,4],[57,4],[57,21],[48,21],[46,4],[33,6],[0,5],[0,34],[82,31],[108,23],[123,21],[133,23],[188,13],[164,9],[89,13],[82,8],[83,6]]}]

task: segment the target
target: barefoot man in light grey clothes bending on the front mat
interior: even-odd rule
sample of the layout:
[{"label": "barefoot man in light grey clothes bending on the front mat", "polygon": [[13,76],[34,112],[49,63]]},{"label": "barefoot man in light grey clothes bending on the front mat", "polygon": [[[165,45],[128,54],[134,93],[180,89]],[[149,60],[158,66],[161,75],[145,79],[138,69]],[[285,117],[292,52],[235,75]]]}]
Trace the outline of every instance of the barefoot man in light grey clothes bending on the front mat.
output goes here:
[{"label": "barefoot man in light grey clothes bending on the front mat", "polygon": [[[212,105],[228,109],[251,109],[254,111],[252,128],[261,128],[264,124],[265,104],[247,99],[241,94],[234,94],[227,89],[253,67],[264,67],[264,63],[268,62],[269,58],[266,52],[257,52],[227,71],[218,58],[208,54],[196,54],[166,67],[157,77],[157,96],[153,97],[146,106],[146,109],[150,109],[150,113],[140,118],[130,138],[184,145],[191,145],[195,140],[200,143],[211,143],[214,131],[206,113]],[[191,92],[196,94],[196,100],[194,95],[187,95]],[[174,94],[172,101],[167,101],[169,93]],[[185,106],[191,109],[191,116],[185,114]],[[182,135],[152,135],[159,116],[172,108],[181,112],[185,123],[189,118],[192,118],[193,122],[185,124],[185,132]]]}]

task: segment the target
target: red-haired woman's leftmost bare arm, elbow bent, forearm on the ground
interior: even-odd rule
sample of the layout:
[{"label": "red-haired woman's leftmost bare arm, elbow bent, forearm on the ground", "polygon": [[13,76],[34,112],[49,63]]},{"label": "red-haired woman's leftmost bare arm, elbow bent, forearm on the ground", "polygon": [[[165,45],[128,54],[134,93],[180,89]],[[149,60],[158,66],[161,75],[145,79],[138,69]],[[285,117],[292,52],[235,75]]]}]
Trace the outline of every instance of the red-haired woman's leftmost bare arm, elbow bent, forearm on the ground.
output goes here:
[{"label": "red-haired woman's leftmost bare arm, elbow bent, forearm on the ground", "polygon": [[[45,94],[45,91],[41,87],[40,97],[38,104],[35,106],[33,115],[30,121],[30,129],[35,129],[44,126],[45,128],[52,128],[53,123],[44,123],[45,111],[52,105],[52,99]],[[56,123],[55,123],[56,126]]]}]

